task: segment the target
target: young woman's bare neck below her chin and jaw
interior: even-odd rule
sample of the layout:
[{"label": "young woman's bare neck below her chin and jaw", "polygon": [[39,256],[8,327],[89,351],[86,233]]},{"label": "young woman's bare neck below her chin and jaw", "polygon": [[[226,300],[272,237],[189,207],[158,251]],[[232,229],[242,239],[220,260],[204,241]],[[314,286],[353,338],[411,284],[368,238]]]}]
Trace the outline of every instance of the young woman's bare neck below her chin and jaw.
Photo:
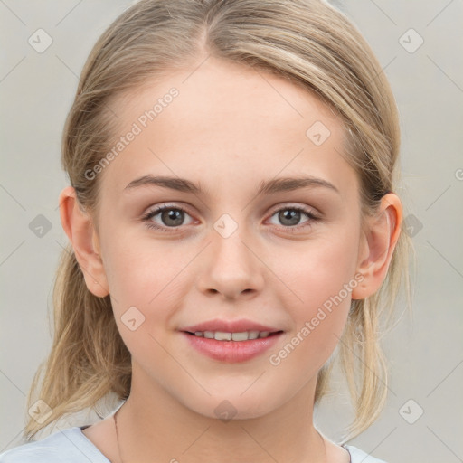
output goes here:
[{"label": "young woman's bare neck below her chin and jaw", "polygon": [[312,422],[315,382],[264,416],[228,421],[191,411],[159,386],[149,394],[137,386],[132,377],[130,396],[118,411],[123,463],[326,461],[325,441]]}]

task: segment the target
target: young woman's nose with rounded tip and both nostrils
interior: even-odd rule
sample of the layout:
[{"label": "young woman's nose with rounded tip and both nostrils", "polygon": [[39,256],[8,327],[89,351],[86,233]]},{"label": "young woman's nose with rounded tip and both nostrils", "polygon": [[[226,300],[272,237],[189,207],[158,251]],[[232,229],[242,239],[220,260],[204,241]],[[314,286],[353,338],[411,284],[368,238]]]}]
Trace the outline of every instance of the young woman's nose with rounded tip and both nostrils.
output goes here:
[{"label": "young woman's nose with rounded tip and both nostrils", "polygon": [[257,246],[240,227],[231,236],[225,236],[216,230],[211,231],[211,242],[203,250],[196,288],[206,296],[254,297],[264,287],[265,265],[259,258]]}]

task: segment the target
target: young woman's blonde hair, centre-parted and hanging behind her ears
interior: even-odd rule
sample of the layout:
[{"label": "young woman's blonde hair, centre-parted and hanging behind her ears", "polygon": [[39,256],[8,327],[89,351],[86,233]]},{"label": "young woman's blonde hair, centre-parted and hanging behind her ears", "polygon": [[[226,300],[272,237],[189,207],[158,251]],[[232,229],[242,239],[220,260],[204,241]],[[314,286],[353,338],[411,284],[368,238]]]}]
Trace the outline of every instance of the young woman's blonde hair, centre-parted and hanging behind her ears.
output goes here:
[{"label": "young woman's blonde hair, centre-parted and hanging behind her ears", "polygon": [[[82,208],[98,209],[100,179],[85,172],[105,156],[118,133],[110,103],[169,72],[194,69],[204,52],[291,80],[339,114],[349,140],[343,156],[360,179],[364,216],[374,213],[384,194],[396,192],[400,129],[395,101],[381,65],[344,14],[320,0],[141,0],[99,37],[66,119],[62,165]],[[370,426],[386,400],[380,338],[392,326],[402,282],[410,289],[411,249],[410,237],[402,232],[382,288],[352,301],[339,342],[354,403],[349,437]],[[90,293],[70,245],[62,253],[53,298],[52,351],[28,395],[28,408],[42,399],[52,412],[41,423],[29,417],[27,440],[64,415],[93,409],[110,392],[121,400],[130,392],[130,354],[110,298]],[[386,323],[380,326],[383,316]],[[318,373],[316,404],[328,392],[332,368],[330,359]]]}]

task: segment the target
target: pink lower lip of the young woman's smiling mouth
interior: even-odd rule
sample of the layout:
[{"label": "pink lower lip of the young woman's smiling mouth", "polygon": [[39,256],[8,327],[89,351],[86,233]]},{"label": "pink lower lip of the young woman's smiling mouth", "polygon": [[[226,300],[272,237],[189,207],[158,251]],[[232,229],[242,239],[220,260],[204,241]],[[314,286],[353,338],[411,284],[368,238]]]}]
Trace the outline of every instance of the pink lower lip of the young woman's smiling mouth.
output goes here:
[{"label": "pink lower lip of the young woman's smiling mouth", "polygon": [[199,353],[206,355],[214,360],[220,360],[227,363],[246,362],[251,358],[257,357],[269,350],[275,345],[282,332],[269,337],[260,337],[258,339],[249,339],[248,341],[217,341],[207,337],[189,335],[182,332],[190,345],[192,345]]}]

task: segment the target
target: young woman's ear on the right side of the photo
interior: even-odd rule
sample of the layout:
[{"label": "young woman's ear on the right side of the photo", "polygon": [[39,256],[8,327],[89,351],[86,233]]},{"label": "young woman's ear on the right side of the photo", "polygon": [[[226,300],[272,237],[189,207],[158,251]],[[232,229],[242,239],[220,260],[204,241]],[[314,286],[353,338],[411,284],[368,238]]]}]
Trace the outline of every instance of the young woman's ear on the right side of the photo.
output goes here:
[{"label": "young woman's ear on the right side of the photo", "polygon": [[356,273],[360,273],[364,279],[353,289],[353,299],[368,298],[381,288],[401,227],[401,200],[396,194],[385,194],[378,213],[367,219],[362,233]]}]

